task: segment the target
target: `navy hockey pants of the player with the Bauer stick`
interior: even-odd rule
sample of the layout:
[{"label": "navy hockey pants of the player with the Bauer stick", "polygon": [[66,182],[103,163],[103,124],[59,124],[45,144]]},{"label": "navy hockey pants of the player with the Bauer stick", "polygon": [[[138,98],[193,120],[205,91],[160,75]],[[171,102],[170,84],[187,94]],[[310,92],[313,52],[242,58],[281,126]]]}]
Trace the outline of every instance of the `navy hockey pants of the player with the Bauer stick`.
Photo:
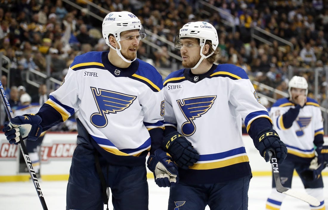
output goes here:
[{"label": "navy hockey pants of the player with the Bauer stick", "polygon": [[[135,167],[110,165],[101,156],[99,163],[107,185],[111,188],[114,210],[148,210],[145,165]],[[78,144],[73,153],[66,195],[66,210],[71,209],[104,209],[101,183],[95,167],[94,149],[90,144]]]}]

